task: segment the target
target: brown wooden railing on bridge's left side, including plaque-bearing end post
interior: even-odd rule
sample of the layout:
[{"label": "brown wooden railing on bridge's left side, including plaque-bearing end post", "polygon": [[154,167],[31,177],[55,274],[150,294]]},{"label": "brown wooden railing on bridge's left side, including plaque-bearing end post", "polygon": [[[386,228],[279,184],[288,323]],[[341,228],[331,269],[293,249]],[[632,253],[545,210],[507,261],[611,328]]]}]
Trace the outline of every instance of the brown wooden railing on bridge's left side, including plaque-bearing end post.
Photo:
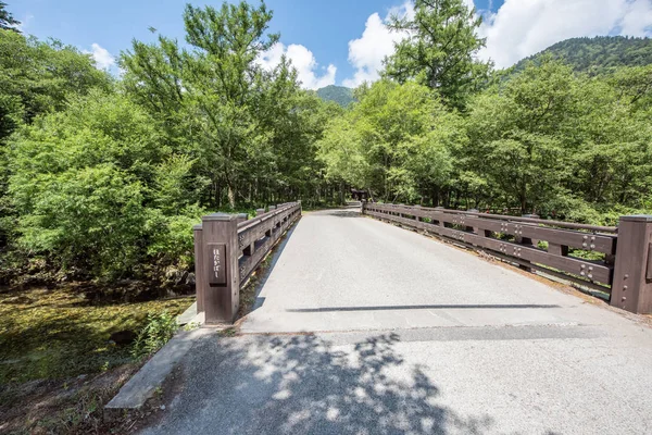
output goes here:
[{"label": "brown wooden railing on bridge's left side, including plaque-bearing end post", "polygon": [[213,213],[195,226],[197,309],[206,323],[233,323],[240,286],[280,236],[301,216],[301,202],[269,206],[256,216]]}]

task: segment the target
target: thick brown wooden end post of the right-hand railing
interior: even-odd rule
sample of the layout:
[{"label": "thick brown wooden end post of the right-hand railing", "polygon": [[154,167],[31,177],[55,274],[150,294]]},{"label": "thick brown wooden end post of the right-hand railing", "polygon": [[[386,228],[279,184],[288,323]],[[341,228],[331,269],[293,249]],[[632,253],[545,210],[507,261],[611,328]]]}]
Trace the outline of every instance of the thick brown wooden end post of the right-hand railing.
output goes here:
[{"label": "thick brown wooden end post of the right-hand railing", "polygon": [[652,313],[652,215],[620,216],[611,304]]}]

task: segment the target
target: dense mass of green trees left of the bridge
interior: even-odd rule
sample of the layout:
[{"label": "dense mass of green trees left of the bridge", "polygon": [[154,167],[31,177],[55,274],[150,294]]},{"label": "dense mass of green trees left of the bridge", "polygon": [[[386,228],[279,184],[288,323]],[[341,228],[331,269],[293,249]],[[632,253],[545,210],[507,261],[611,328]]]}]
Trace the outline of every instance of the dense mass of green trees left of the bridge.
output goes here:
[{"label": "dense mass of green trees left of the bridge", "polygon": [[264,3],[188,5],[188,46],[134,41],[117,86],[89,55],[2,32],[0,236],[12,258],[60,276],[178,282],[206,210],[335,196],[315,142],[342,109],[301,90],[288,62],[261,67],[278,41],[271,17]]}]

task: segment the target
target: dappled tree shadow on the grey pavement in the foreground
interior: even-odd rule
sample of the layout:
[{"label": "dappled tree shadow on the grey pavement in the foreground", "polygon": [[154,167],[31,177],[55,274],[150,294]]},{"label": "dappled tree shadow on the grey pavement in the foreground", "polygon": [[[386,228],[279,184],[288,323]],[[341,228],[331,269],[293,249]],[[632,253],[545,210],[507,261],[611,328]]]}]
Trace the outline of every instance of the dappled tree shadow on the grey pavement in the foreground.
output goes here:
[{"label": "dappled tree shadow on the grey pavement in the foreground", "polygon": [[183,364],[185,386],[148,434],[481,434],[488,415],[438,405],[397,334],[334,345],[315,335],[211,337]]}]

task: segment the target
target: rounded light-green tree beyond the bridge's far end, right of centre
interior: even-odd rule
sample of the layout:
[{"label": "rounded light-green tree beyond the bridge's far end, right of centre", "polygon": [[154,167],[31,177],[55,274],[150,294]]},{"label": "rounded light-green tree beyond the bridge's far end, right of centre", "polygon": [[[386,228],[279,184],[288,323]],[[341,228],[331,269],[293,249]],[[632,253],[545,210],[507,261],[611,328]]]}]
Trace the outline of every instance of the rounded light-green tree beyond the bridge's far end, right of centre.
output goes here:
[{"label": "rounded light-green tree beyond the bridge's far end, right of centre", "polygon": [[416,83],[380,80],[359,90],[361,100],[328,123],[319,141],[327,173],[387,200],[413,201],[443,183],[451,171],[449,146],[460,129],[434,91]]}]

